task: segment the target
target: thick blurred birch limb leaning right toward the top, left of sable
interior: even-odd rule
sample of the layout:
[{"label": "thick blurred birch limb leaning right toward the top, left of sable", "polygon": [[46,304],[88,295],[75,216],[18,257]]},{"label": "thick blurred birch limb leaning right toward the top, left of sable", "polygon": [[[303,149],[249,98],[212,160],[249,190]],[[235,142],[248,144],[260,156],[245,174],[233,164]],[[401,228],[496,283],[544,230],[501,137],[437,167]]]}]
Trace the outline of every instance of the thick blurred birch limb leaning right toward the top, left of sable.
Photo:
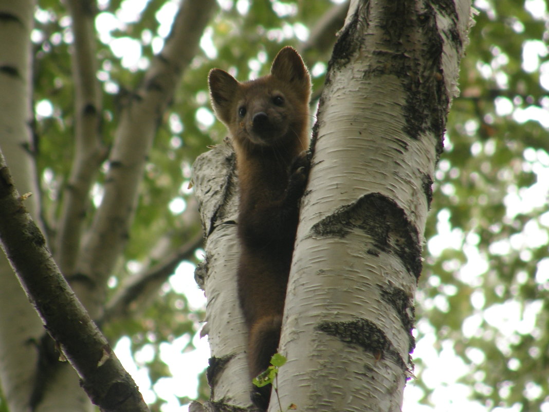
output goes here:
[{"label": "thick blurred birch limb leaning right toward the top, left of sable", "polygon": [[[95,285],[105,283],[127,243],[147,153],[161,116],[171,102],[183,70],[196,54],[215,9],[215,0],[181,3],[163,51],[153,60],[142,85],[122,109],[103,201],[82,244],[76,270]],[[100,296],[97,302],[103,300],[104,296]]]}]

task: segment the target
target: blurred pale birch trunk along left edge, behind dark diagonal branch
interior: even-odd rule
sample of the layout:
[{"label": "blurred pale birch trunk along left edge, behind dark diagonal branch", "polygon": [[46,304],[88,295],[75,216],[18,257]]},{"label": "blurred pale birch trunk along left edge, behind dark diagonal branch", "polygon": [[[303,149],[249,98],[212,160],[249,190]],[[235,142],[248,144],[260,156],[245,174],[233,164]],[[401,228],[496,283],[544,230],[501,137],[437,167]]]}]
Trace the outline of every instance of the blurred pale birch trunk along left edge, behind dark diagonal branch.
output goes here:
[{"label": "blurred pale birch trunk along left edge, behind dark diagonal branch", "polygon": [[[30,32],[33,0],[0,0],[0,147],[9,157],[12,175],[21,193],[35,193],[27,207],[36,219],[38,191],[32,157]],[[37,220],[38,221],[38,220]],[[0,383],[11,412],[30,410],[42,324],[0,254]]]}]

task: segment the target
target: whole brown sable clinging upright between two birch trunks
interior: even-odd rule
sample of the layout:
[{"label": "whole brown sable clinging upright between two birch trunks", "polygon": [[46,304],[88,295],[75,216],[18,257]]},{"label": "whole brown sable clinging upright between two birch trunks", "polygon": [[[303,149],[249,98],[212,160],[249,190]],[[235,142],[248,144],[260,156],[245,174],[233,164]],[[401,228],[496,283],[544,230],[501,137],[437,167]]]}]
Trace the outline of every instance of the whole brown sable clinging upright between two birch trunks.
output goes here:
[{"label": "whole brown sable clinging upright between two birch trunks", "polygon": [[[239,83],[220,69],[209,75],[212,106],[229,130],[240,186],[240,306],[248,326],[250,376],[276,353],[298,203],[306,182],[310,77],[299,54],[284,47],[271,74]],[[270,391],[270,388],[267,388]],[[268,404],[262,391],[257,403]]]}]

